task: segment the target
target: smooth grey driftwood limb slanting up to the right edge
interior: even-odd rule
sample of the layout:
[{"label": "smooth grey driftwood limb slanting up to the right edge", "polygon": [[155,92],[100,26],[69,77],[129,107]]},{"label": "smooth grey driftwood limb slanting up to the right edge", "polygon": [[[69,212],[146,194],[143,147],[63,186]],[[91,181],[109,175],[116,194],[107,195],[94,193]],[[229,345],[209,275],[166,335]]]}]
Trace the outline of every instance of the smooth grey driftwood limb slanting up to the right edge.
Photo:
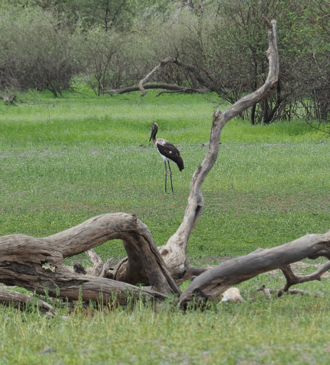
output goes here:
[{"label": "smooth grey driftwood limb slanting up to the right edge", "polygon": [[[194,296],[197,302],[213,299],[231,286],[258,274],[283,268],[304,258],[320,256],[330,258],[330,230],[325,234],[306,234],[284,245],[258,249],[246,256],[225,261],[196,277],[180,296],[180,305],[186,307]],[[318,270],[318,274],[326,267],[327,264]],[[311,280],[319,280],[318,275],[310,277]]]}]

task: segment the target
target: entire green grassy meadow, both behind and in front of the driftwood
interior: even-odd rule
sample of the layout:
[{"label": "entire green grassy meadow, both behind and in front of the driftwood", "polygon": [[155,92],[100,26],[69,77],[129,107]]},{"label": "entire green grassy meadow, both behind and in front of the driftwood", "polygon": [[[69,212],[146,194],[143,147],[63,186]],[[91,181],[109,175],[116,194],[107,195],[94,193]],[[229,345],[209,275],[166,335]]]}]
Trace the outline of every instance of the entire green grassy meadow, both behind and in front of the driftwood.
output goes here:
[{"label": "entire green grassy meadow, both behind and in front of the driftwood", "polygon": [[[155,94],[56,99],[45,92],[19,95],[26,103],[0,103],[0,235],[45,237],[122,211],[136,214],[156,244],[165,244],[207,152],[217,100]],[[174,194],[165,193],[164,163],[149,143],[155,122],[157,137],[174,143],[184,160],[181,173],[171,165]],[[269,126],[231,120],[202,187],[205,207],[189,239],[189,260],[218,264],[327,231],[329,156],[329,141],[301,120]],[[119,240],[96,252],[103,260],[125,256]],[[67,260],[73,263],[90,265],[85,254]],[[305,260],[298,272],[310,273],[314,264]],[[1,307],[0,364],[327,363],[329,279],[300,285],[318,297],[268,300],[256,291],[283,283],[278,270],[262,274],[238,286],[243,303],[213,303],[185,315],[166,303],[157,312],[59,309],[55,318]]]}]

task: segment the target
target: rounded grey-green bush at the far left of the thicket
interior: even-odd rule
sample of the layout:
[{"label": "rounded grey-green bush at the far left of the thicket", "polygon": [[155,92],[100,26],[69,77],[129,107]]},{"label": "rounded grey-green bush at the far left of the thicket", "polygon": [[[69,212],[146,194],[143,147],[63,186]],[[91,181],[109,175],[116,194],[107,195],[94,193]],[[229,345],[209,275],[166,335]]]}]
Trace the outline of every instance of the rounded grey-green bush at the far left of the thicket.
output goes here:
[{"label": "rounded grey-green bush at the far left of the thicket", "polygon": [[0,17],[0,88],[70,87],[78,71],[72,38],[64,24],[45,12],[10,11]]}]

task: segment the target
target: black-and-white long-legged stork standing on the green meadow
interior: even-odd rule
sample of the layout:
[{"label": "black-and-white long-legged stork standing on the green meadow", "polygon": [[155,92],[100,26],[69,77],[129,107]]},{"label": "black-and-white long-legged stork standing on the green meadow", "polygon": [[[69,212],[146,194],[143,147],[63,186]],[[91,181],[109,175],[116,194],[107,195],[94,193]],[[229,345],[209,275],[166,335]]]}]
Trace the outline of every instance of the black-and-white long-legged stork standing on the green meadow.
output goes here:
[{"label": "black-and-white long-legged stork standing on the green meadow", "polygon": [[171,187],[172,187],[172,193],[173,193],[172,171],[170,168],[170,161],[175,162],[178,165],[179,170],[182,171],[184,169],[183,159],[180,156],[179,150],[174,145],[172,145],[172,143],[169,143],[168,141],[166,141],[166,139],[163,139],[163,138],[156,139],[157,131],[158,131],[158,124],[154,123],[152,125],[151,136],[150,136],[149,142],[152,139],[152,141],[156,145],[157,150],[160,153],[160,155],[165,163],[165,193],[166,193],[166,179],[167,179],[166,161],[168,163],[168,168],[170,170]]}]

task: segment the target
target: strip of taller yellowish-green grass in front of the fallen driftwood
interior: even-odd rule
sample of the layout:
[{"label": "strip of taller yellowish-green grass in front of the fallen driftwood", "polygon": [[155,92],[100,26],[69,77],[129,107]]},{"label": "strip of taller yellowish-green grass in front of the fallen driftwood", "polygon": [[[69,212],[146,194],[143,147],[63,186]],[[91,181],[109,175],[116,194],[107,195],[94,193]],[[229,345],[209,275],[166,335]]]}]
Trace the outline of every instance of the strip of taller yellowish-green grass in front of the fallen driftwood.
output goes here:
[{"label": "strip of taller yellowish-green grass in front of the fallen driftwood", "polygon": [[254,293],[184,315],[166,305],[55,318],[2,308],[0,364],[327,364],[329,299]]}]

